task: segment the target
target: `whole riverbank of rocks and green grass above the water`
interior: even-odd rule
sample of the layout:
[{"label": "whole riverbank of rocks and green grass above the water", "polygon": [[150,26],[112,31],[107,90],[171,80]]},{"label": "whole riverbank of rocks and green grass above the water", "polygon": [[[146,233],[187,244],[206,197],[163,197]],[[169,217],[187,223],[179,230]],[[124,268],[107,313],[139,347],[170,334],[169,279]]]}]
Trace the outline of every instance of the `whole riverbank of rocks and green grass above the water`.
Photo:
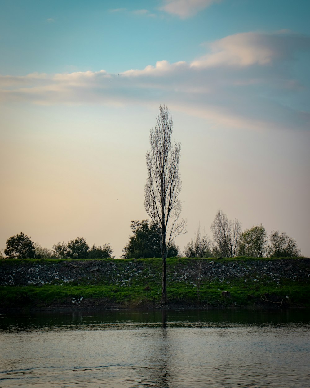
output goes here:
[{"label": "whole riverbank of rocks and green grass above the water", "polygon": [[[1,260],[0,308],[159,308],[161,259]],[[310,259],[167,260],[169,308],[310,307]]]}]

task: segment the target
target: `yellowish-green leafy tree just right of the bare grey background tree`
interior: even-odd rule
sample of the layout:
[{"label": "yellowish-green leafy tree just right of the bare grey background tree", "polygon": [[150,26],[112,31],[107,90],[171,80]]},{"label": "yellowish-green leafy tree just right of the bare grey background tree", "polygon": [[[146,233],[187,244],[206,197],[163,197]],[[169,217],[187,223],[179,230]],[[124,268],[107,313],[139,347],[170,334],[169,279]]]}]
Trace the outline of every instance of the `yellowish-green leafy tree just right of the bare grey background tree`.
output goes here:
[{"label": "yellowish-green leafy tree just right of the bare grey background tree", "polygon": [[267,233],[262,224],[245,230],[238,241],[238,256],[263,257],[266,252]]}]

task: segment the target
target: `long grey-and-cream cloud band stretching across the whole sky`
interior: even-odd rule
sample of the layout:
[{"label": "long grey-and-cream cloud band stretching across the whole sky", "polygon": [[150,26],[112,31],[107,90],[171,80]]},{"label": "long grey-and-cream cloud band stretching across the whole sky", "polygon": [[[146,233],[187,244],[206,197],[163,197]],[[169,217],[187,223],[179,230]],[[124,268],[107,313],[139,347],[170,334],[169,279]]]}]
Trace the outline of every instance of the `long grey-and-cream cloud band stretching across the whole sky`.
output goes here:
[{"label": "long grey-and-cream cloud band stretching across the whole sky", "polygon": [[309,111],[283,97],[309,99],[290,68],[310,37],[293,33],[243,33],[208,43],[209,53],[192,62],[158,61],[123,73],[74,72],[1,76],[2,102],[34,104],[158,104],[165,101],[215,124],[252,129],[308,129]]}]

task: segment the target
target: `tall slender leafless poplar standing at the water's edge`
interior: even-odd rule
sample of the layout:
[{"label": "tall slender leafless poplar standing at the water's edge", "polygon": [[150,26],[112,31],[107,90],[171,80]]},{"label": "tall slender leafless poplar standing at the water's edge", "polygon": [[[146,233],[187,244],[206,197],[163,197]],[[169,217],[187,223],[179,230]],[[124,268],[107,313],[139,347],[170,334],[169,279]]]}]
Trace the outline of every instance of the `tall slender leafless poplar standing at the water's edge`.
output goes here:
[{"label": "tall slender leafless poplar standing at the water's edge", "polygon": [[179,234],[186,233],[186,220],[178,222],[182,204],[179,193],[182,183],[179,175],[181,143],[171,144],[172,117],[168,108],[159,108],[155,129],[150,130],[151,150],[146,154],[148,177],[145,182],[145,210],[158,225],[160,253],[162,255],[162,298],[167,305],[166,262],[169,247]]}]

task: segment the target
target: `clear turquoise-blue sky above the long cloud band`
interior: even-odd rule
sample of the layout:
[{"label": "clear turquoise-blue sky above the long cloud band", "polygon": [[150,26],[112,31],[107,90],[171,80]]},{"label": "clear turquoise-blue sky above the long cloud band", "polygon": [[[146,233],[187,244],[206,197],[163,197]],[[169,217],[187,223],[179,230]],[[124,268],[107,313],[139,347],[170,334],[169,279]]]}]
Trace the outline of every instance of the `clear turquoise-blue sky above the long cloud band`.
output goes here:
[{"label": "clear turquoise-blue sky above the long cloud band", "polygon": [[[201,2],[203,3],[203,2]],[[206,2],[207,3],[207,2]],[[204,42],[248,31],[309,34],[309,2],[214,2],[180,19],[160,1],[2,1],[1,69],[25,75],[144,68],[192,61]]]}]

